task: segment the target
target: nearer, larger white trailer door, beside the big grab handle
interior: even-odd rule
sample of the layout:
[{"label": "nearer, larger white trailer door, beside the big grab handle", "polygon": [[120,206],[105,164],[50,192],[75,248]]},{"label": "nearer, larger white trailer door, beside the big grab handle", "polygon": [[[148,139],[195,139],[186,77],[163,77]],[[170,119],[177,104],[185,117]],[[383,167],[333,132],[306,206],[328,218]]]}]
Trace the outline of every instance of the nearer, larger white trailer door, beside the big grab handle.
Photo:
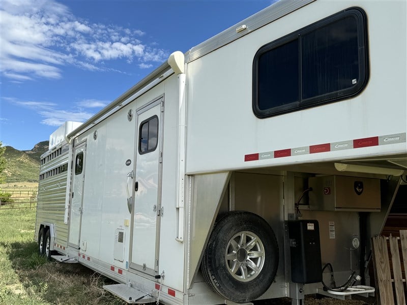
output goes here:
[{"label": "nearer, larger white trailer door, beside the big grab handle", "polygon": [[130,268],[158,272],[163,99],[137,110]]}]

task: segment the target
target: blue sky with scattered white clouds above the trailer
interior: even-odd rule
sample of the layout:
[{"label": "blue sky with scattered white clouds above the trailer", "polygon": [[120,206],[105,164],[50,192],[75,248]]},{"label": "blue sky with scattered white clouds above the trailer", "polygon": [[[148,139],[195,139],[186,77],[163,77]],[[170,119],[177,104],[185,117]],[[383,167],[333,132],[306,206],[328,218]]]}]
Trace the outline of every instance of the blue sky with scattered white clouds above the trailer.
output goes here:
[{"label": "blue sky with scattered white clouds above the trailer", "polygon": [[271,3],[0,0],[0,141],[32,149]]}]

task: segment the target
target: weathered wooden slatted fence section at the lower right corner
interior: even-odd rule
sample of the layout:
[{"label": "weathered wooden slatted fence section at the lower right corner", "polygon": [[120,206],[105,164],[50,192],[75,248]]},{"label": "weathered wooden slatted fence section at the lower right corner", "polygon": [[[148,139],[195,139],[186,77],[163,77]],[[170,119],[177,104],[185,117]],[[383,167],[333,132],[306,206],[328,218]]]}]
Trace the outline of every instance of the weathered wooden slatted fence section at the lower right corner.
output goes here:
[{"label": "weathered wooden slatted fence section at the lower right corner", "polygon": [[[405,305],[404,294],[407,293],[405,272],[407,270],[407,230],[400,230],[400,237],[390,234],[389,237],[373,237],[372,241],[374,276],[379,303],[383,305]],[[391,260],[389,259],[389,250]],[[401,259],[403,264],[401,264]]]}]

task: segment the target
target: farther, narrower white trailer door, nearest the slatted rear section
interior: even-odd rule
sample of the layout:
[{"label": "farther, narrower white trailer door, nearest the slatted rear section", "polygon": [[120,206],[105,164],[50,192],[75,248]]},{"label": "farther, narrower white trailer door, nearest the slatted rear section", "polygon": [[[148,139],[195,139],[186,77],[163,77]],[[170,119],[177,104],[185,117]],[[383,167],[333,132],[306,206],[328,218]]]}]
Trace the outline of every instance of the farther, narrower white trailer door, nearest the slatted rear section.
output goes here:
[{"label": "farther, narrower white trailer door, nearest the slatted rear section", "polygon": [[72,166],[71,210],[69,221],[69,245],[79,248],[82,219],[83,181],[85,177],[86,142],[75,146]]}]

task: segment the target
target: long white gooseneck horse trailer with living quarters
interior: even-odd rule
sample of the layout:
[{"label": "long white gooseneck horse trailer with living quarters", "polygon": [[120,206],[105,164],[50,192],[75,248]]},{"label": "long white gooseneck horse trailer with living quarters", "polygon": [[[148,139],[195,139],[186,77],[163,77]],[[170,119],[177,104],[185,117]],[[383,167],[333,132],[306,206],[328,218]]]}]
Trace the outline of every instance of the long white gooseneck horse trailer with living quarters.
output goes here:
[{"label": "long white gooseneck horse trailer with living quarters", "polygon": [[129,303],[301,303],[327,263],[368,285],[406,187],[405,39],[406,2],[284,1],[173,53],[50,136],[40,252]]}]

